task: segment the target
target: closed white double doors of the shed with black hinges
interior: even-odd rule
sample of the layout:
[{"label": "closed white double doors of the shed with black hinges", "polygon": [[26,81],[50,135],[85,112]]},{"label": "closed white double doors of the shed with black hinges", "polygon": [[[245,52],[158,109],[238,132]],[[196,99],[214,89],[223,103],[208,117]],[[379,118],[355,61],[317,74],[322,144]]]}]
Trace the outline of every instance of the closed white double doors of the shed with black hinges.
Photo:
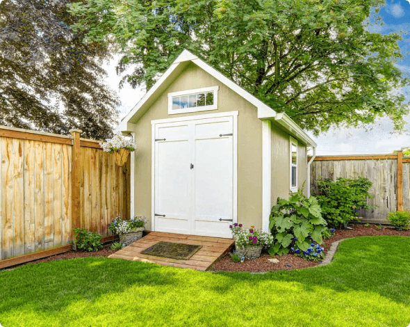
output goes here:
[{"label": "closed white double doors of the shed with black hinges", "polygon": [[233,117],[154,125],[154,230],[231,237]]}]

